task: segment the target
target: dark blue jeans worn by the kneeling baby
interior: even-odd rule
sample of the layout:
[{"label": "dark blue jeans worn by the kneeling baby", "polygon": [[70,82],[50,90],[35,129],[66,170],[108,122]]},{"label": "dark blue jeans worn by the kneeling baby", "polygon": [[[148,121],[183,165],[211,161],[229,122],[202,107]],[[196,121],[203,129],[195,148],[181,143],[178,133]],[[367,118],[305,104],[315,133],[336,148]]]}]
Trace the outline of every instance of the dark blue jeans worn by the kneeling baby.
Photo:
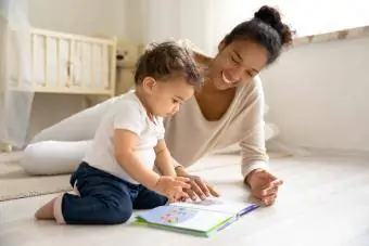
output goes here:
[{"label": "dark blue jeans worn by the kneeling baby", "polygon": [[138,184],[124,181],[81,163],[71,177],[80,196],[65,194],[62,213],[67,224],[118,224],[126,222],[133,209],[165,205],[167,198]]}]

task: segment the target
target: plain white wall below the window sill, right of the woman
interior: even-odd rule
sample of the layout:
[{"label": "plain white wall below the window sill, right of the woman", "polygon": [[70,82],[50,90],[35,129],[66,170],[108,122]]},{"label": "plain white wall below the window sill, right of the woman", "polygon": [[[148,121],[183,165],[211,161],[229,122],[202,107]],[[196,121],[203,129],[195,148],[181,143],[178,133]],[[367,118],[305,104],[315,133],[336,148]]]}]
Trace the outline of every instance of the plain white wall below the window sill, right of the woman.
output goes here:
[{"label": "plain white wall below the window sill, right of the woman", "polygon": [[262,78],[284,141],[369,151],[369,38],[292,49]]}]

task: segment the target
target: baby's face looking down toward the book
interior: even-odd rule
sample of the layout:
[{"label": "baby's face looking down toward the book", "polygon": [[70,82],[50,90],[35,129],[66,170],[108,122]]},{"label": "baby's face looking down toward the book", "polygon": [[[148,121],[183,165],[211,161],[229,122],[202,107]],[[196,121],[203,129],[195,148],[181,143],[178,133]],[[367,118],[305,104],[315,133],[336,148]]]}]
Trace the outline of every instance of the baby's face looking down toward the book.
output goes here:
[{"label": "baby's face looking down toward the book", "polygon": [[193,86],[189,85],[184,78],[156,81],[147,100],[152,114],[168,117],[176,114],[182,103],[192,98],[193,92]]}]

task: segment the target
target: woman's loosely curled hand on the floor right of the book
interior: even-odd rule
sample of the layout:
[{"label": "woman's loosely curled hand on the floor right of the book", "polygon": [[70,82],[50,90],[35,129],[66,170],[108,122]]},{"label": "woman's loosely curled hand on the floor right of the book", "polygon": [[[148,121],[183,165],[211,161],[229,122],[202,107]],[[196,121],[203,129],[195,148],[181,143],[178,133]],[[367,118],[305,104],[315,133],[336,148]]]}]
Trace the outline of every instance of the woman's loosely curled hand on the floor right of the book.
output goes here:
[{"label": "woman's loosely curled hand on the floor right of the book", "polygon": [[244,183],[250,185],[252,195],[264,206],[270,206],[277,198],[279,186],[283,183],[269,172],[256,169],[244,179]]}]

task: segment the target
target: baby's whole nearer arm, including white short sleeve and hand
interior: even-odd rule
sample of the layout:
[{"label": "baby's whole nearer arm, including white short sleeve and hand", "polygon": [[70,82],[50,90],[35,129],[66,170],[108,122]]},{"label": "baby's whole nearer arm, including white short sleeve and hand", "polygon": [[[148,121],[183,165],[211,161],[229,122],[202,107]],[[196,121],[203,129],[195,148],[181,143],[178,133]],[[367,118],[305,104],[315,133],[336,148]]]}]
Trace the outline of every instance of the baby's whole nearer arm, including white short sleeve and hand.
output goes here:
[{"label": "baby's whole nearer arm, including white short sleeve and hand", "polygon": [[114,157],[119,166],[137,182],[150,190],[176,199],[189,187],[188,179],[182,177],[158,176],[152,167],[147,167],[135,153],[140,135],[145,130],[147,115],[137,103],[124,102],[115,105],[114,116]]}]

